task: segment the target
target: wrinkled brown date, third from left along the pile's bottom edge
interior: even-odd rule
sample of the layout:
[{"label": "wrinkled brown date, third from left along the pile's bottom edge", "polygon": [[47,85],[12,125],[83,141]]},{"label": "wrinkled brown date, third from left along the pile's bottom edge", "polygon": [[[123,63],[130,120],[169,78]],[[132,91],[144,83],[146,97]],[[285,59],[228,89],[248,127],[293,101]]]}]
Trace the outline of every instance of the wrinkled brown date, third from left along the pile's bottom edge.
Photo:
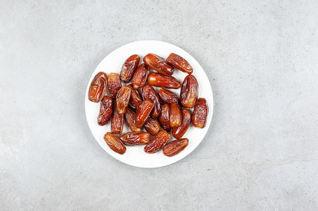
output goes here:
[{"label": "wrinkled brown date, third from left along the pile's bottom edge", "polygon": [[145,146],[144,151],[146,153],[155,153],[163,148],[170,141],[170,134],[167,131],[162,130]]}]

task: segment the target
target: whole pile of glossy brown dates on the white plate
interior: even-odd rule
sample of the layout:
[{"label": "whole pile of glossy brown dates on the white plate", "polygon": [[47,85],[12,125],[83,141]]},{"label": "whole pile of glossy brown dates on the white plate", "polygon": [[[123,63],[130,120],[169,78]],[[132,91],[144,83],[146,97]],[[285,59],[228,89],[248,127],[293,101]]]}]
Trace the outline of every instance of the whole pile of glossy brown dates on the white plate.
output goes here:
[{"label": "whole pile of glossy brown dates on the white plate", "polygon": [[[181,56],[171,53],[165,60],[150,53],[139,63],[140,57],[132,55],[122,65],[120,74],[112,72],[107,76],[99,72],[90,83],[88,99],[100,102],[98,124],[110,121],[111,131],[104,140],[113,151],[123,154],[125,145],[145,145],[146,153],[162,149],[164,155],[174,156],[188,145],[183,135],[190,124],[205,127],[206,99],[198,98],[199,85],[193,68]],[[172,76],[175,69],[188,74],[182,83]],[[180,96],[169,90],[180,87]],[[192,108],[193,112],[189,110]],[[124,122],[131,132],[122,133]]]}]

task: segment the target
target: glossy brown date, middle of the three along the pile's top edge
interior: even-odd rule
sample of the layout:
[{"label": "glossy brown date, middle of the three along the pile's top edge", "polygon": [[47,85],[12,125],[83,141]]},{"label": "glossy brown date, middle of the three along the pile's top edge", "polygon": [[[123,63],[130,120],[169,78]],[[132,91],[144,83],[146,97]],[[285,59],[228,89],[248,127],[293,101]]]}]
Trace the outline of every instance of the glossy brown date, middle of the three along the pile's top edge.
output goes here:
[{"label": "glossy brown date, middle of the three along the pile's top edge", "polygon": [[166,60],[158,55],[147,54],[146,56],[144,56],[143,60],[147,66],[149,66],[151,69],[154,69],[158,73],[164,75],[172,75],[174,72],[173,66],[168,64]]}]

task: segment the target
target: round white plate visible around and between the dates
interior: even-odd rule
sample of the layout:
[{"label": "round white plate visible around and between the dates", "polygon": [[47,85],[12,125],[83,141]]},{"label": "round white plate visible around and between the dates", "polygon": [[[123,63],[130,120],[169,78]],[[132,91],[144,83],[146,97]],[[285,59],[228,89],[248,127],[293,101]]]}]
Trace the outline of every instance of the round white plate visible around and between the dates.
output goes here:
[{"label": "round white plate visible around and between the dates", "polygon": [[[190,65],[193,67],[194,71],[193,74],[196,76],[199,82],[199,97],[203,97],[207,100],[207,104],[209,106],[209,113],[207,117],[206,126],[204,129],[195,128],[193,125],[189,126],[188,131],[183,136],[184,138],[189,139],[188,146],[179,154],[173,157],[167,157],[163,155],[162,150],[154,153],[154,154],[147,154],[144,152],[144,146],[127,146],[127,150],[123,155],[117,154],[112,151],[106,142],[104,141],[104,134],[110,132],[110,121],[105,126],[100,126],[97,123],[97,116],[99,114],[100,103],[93,103],[88,100],[88,88],[92,78],[100,71],[104,71],[107,75],[111,72],[120,73],[120,69],[124,61],[133,54],[138,54],[140,56],[140,64],[142,63],[142,58],[148,54],[154,53],[158,56],[163,58],[167,58],[170,53],[175,53],[182,56],[185,60],[187,60]],[[181,82],[183,81],[186,73],[183,73],[177,69],[173,74],[174,77],[178,78]],[[158,90],[158,89],[156,89]],[[180,89],[172,90],[178,96],[180,95]],[[121,162],[124,162],[129,165],[138,166],[138,167],[160,167],[169,165],[174,163],[190,152],[192,152],[202,141],[205,134],[207,133],[213,113],[213,95],[210,82],[208,80],[207,75],[205,74],[204,70],[200,66],[200,64],[187,52],[176,47],[172,44],[165,43],[163,41],[154,41],[154,40],[144,40],[144,41],[136,41],[134,43],[127,44],[122,46],[112,53],[110,53],[103,61],[97,66],[97,68],[92,73],[85,95],[85,112],[87,122],[90,128],[91,133],[93,134],[94,138],[97,142],[103,147],[103,149],[116,158]],[[124,123],[123,132],[128,132],[129,129]],[[172,136],[171,136],[172,137]],[[174,138],[172,137],[172,140]]]}]

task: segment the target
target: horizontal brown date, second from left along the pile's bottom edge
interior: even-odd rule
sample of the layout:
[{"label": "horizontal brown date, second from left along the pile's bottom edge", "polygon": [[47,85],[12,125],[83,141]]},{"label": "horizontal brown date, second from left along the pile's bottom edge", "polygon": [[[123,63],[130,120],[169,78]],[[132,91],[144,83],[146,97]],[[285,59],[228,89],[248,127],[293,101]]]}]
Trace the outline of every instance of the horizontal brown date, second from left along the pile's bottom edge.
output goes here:
[{"label": "horizontal brown date, second from left along the pile's bottom edge", "polygon": [[128,146],[145,145],[150,142],[150,134],[147,132],[127,132],[120,134],[119,139]]}]

